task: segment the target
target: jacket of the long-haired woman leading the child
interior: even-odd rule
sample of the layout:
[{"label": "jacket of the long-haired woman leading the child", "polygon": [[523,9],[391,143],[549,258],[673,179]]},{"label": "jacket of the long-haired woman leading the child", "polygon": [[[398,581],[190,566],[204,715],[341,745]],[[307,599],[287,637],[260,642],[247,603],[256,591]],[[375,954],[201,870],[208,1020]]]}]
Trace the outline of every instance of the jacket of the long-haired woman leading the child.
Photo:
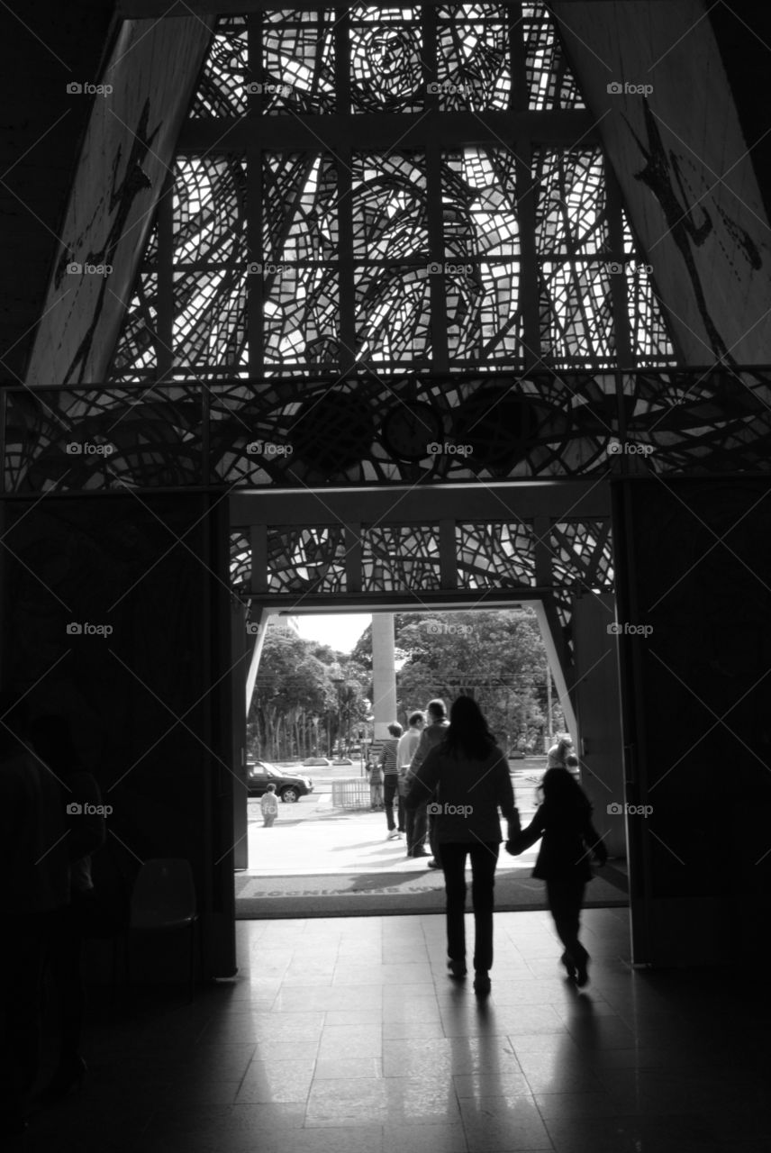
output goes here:
[{"label": "jacket of the long-haired woman leading the child", "polygon": [[520,830],[508,761],[498,747],[482,760],[451,756],[438,747],[431,748],[415,774],[405,807],[417,808],[431,799],[434,790],[429,815],[436,822],[440,845],[500,844],[498,809],[508,821],[509,838]]}]

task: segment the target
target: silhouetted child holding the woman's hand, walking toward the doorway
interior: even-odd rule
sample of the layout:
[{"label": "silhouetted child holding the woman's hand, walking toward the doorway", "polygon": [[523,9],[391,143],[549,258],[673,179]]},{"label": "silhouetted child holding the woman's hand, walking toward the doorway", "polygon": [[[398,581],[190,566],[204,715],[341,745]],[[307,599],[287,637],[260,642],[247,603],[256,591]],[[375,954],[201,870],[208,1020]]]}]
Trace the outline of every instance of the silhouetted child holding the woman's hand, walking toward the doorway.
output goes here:
[{"label": "silhouetted child holding the woman's hand, walking toward the doorway", "polygon": [[579,941],[581,906],[587,882],[592,879],[590,858],[598,865],[607,850],[591,823],[591,804],[573,775],[547,769],[542,782],[544,799],[527,829],[506,843],[516,857],[543,837],[532,875],[546,882],[546,900],[562,942],[560,958],[568,979],[583,988],[589,981],[589,954]]}]

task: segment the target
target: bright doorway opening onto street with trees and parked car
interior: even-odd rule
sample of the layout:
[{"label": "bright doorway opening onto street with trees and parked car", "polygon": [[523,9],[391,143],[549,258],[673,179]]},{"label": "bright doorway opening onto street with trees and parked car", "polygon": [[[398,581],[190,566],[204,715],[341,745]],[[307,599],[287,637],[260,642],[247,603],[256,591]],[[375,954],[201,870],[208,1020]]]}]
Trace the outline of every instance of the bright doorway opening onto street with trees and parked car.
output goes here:
[{"label": "bright doorway opening onto street with trees and parked car", "polygon": [[[388,838],[370,789],[385,718],[403,731],[410,714],[434,698],[447,707],[460,694],[478,700],[508,759],[523,824],[535,812],[546,753],[558,734],[572,736],[587,791],[596,792],[598,782],[612,791],[597,778],[598,770],[605,775],[602,751],[581,756],[574,686],[557,660],[539,601],[485,598],[482,608],[477,598],[477,606],[448,601],[421,610],[414,604],[413,597],[409,608],[373,605],[362,613],[356,605],[340,613],[338,602],[325,613],[290,615],[270,604],[257,612],[252,606],[252,627],[258,624],[248,678],[248,851],[236,874],[241,918],[444,907],[441,874],[407,859],[403,839]],[[376,617],[393,628],[393,694],[385,711],[388,686],[376,684],[372,668]],[[590,714],[585,721],[591,729]],[[615,754],[620,762],[620,747]],[[265,806],[271,785],[279,800]],[[266,820],[265,807],[278,809],[275,820]],[[600,905],[626,904],[622,838],[613,854],[620,883],[596,887]],[[535,856],[535,849],[520,858],[501,853],[499,907],[545,907],[541,883],[530,879]]]}]

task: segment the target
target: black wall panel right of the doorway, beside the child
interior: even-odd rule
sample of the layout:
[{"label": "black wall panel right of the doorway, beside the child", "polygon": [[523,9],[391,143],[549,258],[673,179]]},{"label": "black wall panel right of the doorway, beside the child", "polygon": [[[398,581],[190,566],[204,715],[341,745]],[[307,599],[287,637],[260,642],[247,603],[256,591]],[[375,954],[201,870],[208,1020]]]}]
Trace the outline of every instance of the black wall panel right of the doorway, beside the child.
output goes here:
[{"label": "black wall panel right of the doorway, beside the child", "polygon": [[771,907],[771,485],[614,487],[640,962],[730,960]]}]

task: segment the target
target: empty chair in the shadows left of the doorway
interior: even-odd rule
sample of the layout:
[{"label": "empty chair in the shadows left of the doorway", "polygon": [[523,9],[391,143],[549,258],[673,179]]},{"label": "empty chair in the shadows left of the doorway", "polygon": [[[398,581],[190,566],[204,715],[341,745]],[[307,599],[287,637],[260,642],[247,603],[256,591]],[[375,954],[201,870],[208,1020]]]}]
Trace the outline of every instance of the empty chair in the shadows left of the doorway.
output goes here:
[{"label": "empty chair in the shadows left of the doorway", "polygon": [[186,927],[190,933],[190,1000],[192,1001],[196,928],[199,943],[201,932],[190,861],[175,857],[144,861],[131,891],[129,925],[126,933],[127,984],[129,984],[131,933],[166,933]]}]

